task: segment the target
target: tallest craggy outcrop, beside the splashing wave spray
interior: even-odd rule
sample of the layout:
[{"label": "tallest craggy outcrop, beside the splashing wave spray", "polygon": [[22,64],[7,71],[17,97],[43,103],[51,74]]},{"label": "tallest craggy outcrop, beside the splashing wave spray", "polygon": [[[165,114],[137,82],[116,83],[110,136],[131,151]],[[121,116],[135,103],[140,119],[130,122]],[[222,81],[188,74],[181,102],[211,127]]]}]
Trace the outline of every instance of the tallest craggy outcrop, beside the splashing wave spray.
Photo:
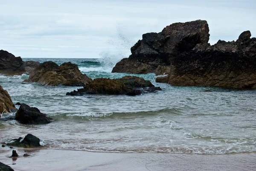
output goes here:
[{"label": "tallest craggy outcrop, beside the splashing wave spray", "polygon": [[207,21],[196,20],[173,23],[160,33],[146,33],[131,47],[131,55],[118,62],[112,72],[145,74],[155,72],[158,66],[171,64],[170,59],[195,46],[206,49],[209,41]]}]

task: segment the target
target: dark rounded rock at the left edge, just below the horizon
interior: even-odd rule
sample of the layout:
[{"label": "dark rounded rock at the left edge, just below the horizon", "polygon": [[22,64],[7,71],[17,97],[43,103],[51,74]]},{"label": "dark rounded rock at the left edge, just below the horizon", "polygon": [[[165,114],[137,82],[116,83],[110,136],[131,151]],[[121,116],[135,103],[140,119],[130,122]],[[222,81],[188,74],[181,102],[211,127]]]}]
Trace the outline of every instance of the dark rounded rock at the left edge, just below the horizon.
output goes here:
[{"label": "dark rounded rock at the left edge, just below the horizon", "polygon": [[26,72],[23,61],[11,53],[0,50],[0,73],[4,75],[21,75]]}]

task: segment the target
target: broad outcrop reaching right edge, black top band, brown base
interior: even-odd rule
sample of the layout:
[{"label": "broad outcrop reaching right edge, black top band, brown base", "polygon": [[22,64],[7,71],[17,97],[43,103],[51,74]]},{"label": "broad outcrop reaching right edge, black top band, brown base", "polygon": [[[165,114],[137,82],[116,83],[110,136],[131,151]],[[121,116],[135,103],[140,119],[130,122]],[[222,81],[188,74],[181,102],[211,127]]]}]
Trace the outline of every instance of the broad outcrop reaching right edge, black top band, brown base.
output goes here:
[{"label": "broad outcrop reaching right edge, black top band, brown base", "polygon": [[243,32],[237,41],[218,41],[172,58],[169,84],[256,89],[256,38]]}]

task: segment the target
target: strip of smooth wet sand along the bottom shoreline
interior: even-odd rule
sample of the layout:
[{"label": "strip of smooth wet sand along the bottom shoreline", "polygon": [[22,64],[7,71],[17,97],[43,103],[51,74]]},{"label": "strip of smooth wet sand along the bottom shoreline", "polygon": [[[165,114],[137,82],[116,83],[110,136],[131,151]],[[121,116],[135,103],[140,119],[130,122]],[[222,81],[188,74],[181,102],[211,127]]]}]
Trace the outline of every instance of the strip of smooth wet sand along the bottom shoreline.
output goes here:
[{"label": "strip of smooth wet sand along the bottom shoreline", "polygon": [[[17,149],[16,149],[17,150]],[[30,154],[23,157],[23,154]],[[15,171],[256,171],[256,153],[101,153],[54,149],[0,149],[0,161]]]}]

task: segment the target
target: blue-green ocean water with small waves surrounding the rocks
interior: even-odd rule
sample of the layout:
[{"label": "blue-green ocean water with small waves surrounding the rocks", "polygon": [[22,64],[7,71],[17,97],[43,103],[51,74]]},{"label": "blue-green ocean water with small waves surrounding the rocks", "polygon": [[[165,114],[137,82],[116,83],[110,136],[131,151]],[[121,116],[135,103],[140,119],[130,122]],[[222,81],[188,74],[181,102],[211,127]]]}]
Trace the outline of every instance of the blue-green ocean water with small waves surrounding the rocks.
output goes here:
[{"label": "blue-green ocean water with small waves surrounding the rocks", "polygon": [[[80,87],[25,83],[29,75],[0,75],[14,103],[37,107],[53,120],[23,125],[0,120],[0,143],[32,133],[49,149],[114,153],[231,154],[256,152],[256,91],[175,87],[154,73],[111,73],[116,61],[89,58],[23,58],[72,62],[90,78],[136,75],[162,91],[140,96],[66,96]],[[17,108],[19,106],[16,106]],[[3,118],[15,115],[3,114]]]}]

